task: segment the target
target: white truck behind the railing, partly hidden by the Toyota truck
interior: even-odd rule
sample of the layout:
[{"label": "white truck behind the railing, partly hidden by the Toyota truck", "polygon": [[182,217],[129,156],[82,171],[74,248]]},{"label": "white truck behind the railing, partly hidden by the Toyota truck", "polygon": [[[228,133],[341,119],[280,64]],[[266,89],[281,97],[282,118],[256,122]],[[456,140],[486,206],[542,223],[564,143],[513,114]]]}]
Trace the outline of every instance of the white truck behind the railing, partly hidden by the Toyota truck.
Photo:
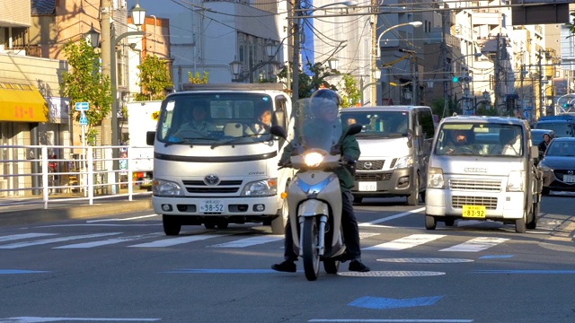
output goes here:
[{"label": "white truck behind the railing, partly hidden by the Toyota truck", "polygon": [[154,147],[146,144],[148,131],[155,131],[161,100],[135,101],[127,105],[129,165],[133,180],[140,188],[151,188],[154,170]]}]

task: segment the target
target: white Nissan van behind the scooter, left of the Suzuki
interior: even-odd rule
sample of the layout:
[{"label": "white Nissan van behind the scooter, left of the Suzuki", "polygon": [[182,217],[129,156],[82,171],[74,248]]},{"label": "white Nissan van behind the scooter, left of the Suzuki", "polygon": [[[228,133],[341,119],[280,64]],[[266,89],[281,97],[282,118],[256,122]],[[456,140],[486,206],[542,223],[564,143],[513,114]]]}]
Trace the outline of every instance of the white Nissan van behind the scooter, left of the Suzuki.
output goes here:
[{"label": "white Nissan van behind the scooter, left of the Suzuki", "polygon": [[341,109],[341,120],[359,123],[361,155],[351,193],[364,197],[406,196],[417,205],[425,191],[435,124],[425,106],[378,106]]}]

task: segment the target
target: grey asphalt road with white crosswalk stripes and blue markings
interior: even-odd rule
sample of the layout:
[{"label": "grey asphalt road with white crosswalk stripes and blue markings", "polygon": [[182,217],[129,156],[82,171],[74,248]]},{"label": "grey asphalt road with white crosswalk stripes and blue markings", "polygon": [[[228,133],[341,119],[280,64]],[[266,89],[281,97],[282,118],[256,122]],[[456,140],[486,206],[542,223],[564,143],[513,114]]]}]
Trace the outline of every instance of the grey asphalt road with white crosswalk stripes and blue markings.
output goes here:
[{"label": "grey asphalt road with white crosswalk stripes and blue markings", "polygon": [[0,226],[0,322],[573,322],[575,196],[545,196],[534,231],[423,226],[424,205],[356,205],[372,271],[305,279],[270,265],[270,228],[184,226],[150,210]]}]

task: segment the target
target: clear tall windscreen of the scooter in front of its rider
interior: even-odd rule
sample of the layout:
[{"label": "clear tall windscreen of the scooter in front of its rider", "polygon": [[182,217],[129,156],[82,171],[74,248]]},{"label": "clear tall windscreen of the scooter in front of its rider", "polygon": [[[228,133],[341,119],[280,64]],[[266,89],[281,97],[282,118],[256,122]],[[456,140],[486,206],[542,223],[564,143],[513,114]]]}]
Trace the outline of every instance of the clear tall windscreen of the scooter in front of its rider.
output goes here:
[{"label": "clear tall windscreen of the scooter in front of its rider", "polygon": [[325,98],[299,100],[296,106],[295,139],[303,153],[311,149],[332,152],[341,137],[341,119],[337,102]]}]

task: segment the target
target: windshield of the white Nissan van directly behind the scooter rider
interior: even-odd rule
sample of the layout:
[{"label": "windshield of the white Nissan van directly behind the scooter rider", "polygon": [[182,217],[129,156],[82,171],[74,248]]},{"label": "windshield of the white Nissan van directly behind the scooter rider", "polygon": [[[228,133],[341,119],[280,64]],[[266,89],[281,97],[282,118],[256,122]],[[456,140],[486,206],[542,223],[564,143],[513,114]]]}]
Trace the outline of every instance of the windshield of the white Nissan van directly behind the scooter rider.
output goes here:
[{"label": "windshield of the white Nissan van directly behind the scooter rider", "polygon": [[393,137],[407,135],[409,112],[407,111],[353,111],[341,113],[344,124],[360,124],[363,129],[356,135]]}]

